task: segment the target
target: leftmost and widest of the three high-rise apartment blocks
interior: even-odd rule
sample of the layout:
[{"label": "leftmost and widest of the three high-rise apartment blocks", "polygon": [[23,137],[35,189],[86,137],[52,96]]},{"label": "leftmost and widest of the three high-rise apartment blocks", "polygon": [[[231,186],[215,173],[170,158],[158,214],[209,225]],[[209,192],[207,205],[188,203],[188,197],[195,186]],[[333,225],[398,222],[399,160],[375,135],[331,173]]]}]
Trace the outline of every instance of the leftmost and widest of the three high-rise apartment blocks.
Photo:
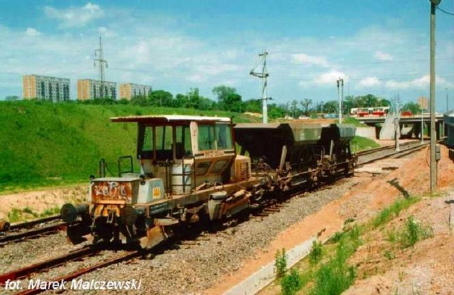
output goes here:
[{"label": "leftmost and widest of the three high-rise apartment blocks", "polygon": [[24,99],[44,99],[51,101],[69,100],[69,79],[36,74],[22,78]]}]

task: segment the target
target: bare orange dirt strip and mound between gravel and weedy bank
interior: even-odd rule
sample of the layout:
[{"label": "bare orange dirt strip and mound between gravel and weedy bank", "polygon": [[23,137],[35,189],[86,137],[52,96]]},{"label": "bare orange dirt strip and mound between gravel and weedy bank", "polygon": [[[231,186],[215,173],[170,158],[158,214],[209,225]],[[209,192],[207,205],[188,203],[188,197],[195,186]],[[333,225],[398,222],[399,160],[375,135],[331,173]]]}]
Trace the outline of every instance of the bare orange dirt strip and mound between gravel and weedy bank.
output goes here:
[{"label": "bare orange dirt strip and mound between gravel and weedy bank", "polygon": [[[291,249],[302,244],[311,236],[323,231],[320,240],[328,238],[343,227],[344,221],[353,218],[366,221],[375,216],[379,210],[389,206],[401,192],[388,181],[397,180],[410,195],[420,196],[429,192],[429,166],[427,165],[427,148],[410,158],[402,158],[398,169],[387,175],[367,177],[362,173],[356,177],[358,184],[353,186],[341,199],[332,201],[319,212],[307,216],[302,221],[282,231],[269,247],[257,251],[254,258],[248,259],[238,272],[222,277],[217,285],[205,294],[222,294],[271,262],[276,251]],[[449,159],[448,150],[442,147],[442,160],[438,163],[438,186],[446,191],[454,184],[454,163]],[[453,288],[454,290],[454,288]],[[367,292],[355,294],[368,294]],[[400,294],[400,293],[399,293]]]}]

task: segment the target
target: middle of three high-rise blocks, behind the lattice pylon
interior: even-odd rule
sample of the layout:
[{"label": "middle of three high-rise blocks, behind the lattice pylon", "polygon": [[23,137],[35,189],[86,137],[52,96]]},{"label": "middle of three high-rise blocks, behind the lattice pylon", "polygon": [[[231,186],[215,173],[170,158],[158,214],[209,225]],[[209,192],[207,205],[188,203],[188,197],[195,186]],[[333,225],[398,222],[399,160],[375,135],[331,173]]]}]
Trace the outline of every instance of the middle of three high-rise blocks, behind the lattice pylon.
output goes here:
[{"label": "middle of three high-rise blocks, behind the lattice pylon", "polygon": [[77,99],[117,98],[117,83],[92,79],[77,80]]}]

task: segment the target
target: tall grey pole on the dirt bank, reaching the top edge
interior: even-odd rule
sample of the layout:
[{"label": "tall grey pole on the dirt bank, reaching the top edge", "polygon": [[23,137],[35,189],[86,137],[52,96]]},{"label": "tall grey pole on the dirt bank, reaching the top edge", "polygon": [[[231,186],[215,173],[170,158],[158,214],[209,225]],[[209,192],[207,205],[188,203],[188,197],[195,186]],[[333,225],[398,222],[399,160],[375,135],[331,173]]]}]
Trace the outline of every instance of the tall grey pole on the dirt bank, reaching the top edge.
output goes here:
[{"label": "tall grey pole on the dirt bank, reaching the top edge", "polygon": [[430,192],[437,189],[435,130],[435,12],[441,0],[430,2]]}]

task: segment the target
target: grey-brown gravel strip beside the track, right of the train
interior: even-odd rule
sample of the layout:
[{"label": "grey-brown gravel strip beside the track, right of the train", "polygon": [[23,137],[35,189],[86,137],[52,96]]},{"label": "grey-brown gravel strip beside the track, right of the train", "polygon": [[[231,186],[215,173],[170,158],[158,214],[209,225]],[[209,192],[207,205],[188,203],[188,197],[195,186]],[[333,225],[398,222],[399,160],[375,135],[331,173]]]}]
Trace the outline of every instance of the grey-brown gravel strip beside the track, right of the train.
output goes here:
[{"label": "grey-brown gravel strip beside the track, right of the train", "polygon": [[[319,191],[293,197],[280,212],[254,218],[214,234],[204,233],[191,246],[181,245],[179,249],[170,249],[153,259],[135,259],[133,262],[109,266],[84,275],[81,279],[142,280],[141,290],[129,294],[202,292],[215,284],[222,275],[239,270],[246,258],[254,255],[258,249],[267,247],[280,231],[308,214],[317,212],[326,203],[338,199],[356,183],[354,178],[340,180],[334,186],[325,186]],[[65,272],[67,271],[66,269]],[[82,293],[97,294],[96,290],[69,290],[65,294]]]}]

